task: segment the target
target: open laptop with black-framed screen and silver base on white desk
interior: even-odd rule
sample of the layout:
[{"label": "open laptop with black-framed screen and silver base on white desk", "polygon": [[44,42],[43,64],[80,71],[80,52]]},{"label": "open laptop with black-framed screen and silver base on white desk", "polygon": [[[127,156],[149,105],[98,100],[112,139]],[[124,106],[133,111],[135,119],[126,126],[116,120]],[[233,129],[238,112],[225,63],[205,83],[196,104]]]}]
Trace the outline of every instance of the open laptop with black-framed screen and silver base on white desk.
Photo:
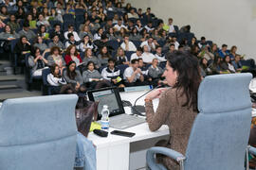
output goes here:
[{"label": "open laptop with black-framed screen and silver base on white desk", "polygon": [[109,126],[124,129],[142,124],[145,118],[136,115],[126,114],[123,109],[122,101],[117,87],[103,88],[98,90],[88,91],[90,101],[99,101],[98,120],[101,119],[101,110],[103,105],[107,105],[109,109]]}]

